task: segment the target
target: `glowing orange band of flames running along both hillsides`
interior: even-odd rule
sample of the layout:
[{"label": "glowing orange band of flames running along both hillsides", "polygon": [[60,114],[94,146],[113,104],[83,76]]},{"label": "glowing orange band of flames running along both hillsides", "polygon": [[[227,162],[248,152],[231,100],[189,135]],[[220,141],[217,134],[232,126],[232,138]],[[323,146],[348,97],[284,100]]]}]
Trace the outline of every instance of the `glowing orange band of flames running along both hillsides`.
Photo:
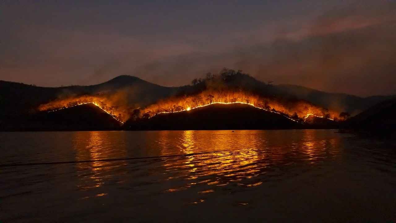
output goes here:
[{"label": "glowing orange band of flames running along both hillsides", "polygon": [[[205,99],[204,99],[205,98]],[[156,104],[151,104],[146,108],[139,110],[136,115],[133,109],[126,105],[114,105],[114,102],[105,96],[79,96],[67,98],[64,100],[55,100],[39,106],[40,111],[54,112],[57,110],[71,108],[83,104],[94,104],[104,112],[111,115],[117,121],[124,123],[131,116],[133,118],[151,118],[160,113],[175,113],[190,111],[196,108],[202,108],[211,104],[247,104],[267,112],[277,113],[296,122],[305,122],[313,115],[315,117],[327,118],[329,120],[340,120],[337,112],[329,111],[325,108],[315,106],[305,101],[295,102],[278,102],[276,99],[260,97],[257,95],[245,93],[242,91],[213,91],[204,90],[199,94],[190,96],[168,98]],[[118,115],[116,115],[118,114]],[[137,116],[137,117],[136,117]]]}]

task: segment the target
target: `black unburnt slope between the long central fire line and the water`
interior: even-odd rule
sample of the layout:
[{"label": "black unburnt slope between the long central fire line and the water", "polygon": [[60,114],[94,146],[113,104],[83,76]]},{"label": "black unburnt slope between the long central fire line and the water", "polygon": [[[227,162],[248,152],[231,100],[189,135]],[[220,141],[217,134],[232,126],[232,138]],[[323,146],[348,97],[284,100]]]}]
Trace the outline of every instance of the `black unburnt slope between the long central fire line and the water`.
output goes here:
[{"label": "black unburnt slope between the long central fire line and the water", "polygon": [[162,113],[150,119],[128,121],[127,130],[186,129],[301,129],[283,115],[267,112],[246,104],[211,104],[177,113]]}]

